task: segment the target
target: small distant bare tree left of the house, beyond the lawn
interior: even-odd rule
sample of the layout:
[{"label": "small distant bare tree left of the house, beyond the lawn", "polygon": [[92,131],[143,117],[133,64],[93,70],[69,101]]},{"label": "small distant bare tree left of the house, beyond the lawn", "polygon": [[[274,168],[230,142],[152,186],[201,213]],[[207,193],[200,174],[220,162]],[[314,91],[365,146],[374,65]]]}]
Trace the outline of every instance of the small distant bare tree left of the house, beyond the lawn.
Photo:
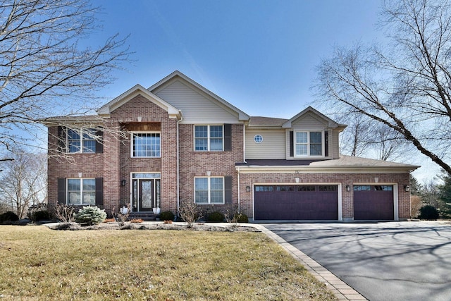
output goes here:
[{"label": "small distant bare tree left of the house, beyond the lawn", "polygon": [[27,209],[47,201],[47,155],[15,149],[13,160],[4,162],[0,203],[22,218]]}]

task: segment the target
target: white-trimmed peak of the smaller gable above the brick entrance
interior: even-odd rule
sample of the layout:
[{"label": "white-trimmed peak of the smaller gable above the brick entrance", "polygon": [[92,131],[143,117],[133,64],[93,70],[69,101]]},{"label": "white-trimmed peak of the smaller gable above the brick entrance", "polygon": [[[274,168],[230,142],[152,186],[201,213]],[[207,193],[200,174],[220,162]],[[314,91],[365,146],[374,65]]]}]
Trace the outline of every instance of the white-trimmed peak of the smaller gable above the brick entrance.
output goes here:
[{"label": "white-trimmed peak of the smaller gable above the brick entrance", "polygon": [[118,109],[118,107],[122,106],[138,94],[142,94],[142,96],[146,97],[151,102],[161,107],[161,109],[167,111],[170,117],[178,119],[182,117],[182,112],[179,109],[175,108],[175,106],[172,106],[171,104],[168,104],[168,102],[165,102],[163,99],[156,96],[152,92],[149,92],[149,90],[139,84],[135,85],[135,87],[130,88],[128,91],[111,100],[111,102],[105,104],[104,106],[101,106],[101,108],[97,110],[97,113],[99,114],[99,116],[109,118],[109,115],[112,111]]}]

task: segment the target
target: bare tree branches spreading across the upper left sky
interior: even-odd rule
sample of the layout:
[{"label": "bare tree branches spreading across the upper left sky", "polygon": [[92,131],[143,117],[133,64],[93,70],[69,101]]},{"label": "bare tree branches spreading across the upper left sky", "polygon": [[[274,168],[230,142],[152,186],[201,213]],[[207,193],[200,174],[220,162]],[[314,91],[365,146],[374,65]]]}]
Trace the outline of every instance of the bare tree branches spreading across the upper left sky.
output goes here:
[{"label": "bare tree branches spreading across the upper left sky", "polygon": [[0,151],[35,139],[37,120],[85,113],[111,69],[128,59],[117,35],[82,47],[99,29],[85,0],[0,0]]}]

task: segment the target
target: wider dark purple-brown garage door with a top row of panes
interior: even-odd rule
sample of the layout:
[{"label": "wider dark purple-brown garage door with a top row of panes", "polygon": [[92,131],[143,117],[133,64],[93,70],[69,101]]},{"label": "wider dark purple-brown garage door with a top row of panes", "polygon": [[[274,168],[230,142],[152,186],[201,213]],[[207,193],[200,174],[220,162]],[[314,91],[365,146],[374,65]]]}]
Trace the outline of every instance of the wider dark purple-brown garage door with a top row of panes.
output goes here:
[{"label": "wider dark purple-brown garage door with a top row of panes", "polygon": [[256,185],[255,220],[338,220],[337,185]]}]

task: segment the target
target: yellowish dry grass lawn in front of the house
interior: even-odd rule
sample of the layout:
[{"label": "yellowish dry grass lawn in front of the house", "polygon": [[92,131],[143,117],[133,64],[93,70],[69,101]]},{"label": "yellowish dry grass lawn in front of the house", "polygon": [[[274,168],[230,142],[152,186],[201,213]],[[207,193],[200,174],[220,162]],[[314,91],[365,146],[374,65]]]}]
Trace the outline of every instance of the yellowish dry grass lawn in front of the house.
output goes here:
[{"label": "yellowish dry grass lawn in front of the house", "polygon": [[336,300],[262,233],[0,226],[2,300]]}]

